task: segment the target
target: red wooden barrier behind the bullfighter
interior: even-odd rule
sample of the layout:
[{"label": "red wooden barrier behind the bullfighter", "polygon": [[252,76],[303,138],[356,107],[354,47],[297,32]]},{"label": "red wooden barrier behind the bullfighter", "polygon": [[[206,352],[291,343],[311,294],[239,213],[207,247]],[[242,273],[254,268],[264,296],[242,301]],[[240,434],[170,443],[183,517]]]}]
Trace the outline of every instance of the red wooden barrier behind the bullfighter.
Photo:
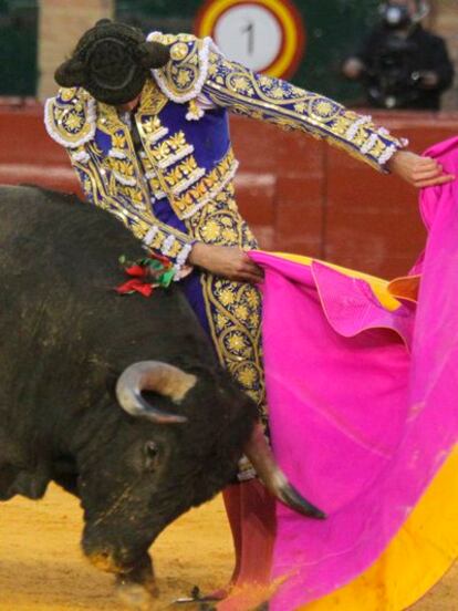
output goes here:
[{"label": "red wooden barrier behind the bullfighter", "polygon": [[[457,133],[458,114],[378,113],[414,151]],[[237,194],[266,249],[325,258],[381,276],[405,272],[424,240],[416,191],[299,133],[232,117]],[[0,183],[79,190],[39,104],[0,104]]]}]

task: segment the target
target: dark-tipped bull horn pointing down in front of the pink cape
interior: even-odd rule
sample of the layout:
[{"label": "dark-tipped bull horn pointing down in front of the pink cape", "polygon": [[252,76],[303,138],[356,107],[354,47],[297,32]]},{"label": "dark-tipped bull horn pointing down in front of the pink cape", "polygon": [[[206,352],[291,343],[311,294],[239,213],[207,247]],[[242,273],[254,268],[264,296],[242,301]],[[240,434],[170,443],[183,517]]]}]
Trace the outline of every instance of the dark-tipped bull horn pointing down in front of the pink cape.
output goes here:
[{"label": "dark-tipped bull horn pointing down in front of the pink cape", "polygon": [[266,488],[290,509],[309,518],[324,519],[326,515],[305,500],[277,464],[262,429],[257,425],[244,446],[244,454]]}]

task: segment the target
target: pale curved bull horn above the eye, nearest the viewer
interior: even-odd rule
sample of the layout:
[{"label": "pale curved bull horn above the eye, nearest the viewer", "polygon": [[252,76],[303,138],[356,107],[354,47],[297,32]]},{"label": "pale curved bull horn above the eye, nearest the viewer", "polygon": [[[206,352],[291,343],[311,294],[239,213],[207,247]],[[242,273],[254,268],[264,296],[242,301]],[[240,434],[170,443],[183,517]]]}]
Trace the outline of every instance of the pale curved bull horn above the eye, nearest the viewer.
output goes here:
[{"label": "pale curved bull horn above the eye, nearest the viewer", "polygon": [[159,361],[140,361],[129,365],[116,383],[116,396],[122,408],[132,416],[146,417],[155,423],[183,423],[185,416],[153,407],[142,391],[154,391],[179,403],[196,384],[197,377]]}]

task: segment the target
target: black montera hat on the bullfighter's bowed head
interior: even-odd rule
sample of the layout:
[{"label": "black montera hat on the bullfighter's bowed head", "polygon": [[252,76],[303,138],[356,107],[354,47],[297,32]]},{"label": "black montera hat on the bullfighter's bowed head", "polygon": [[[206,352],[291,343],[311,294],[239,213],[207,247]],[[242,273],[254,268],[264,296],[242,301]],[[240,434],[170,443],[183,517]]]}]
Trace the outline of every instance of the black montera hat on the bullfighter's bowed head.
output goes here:
[{"label": "black montera hat on the bullfighter's bowed head", "polygon": [[138,28],[102,19],[81,37],[54,79],[63,87],[84,87],[98,102],[125,104],[139,94],[150,69],[169,59],[168,48],[147,42]]}]

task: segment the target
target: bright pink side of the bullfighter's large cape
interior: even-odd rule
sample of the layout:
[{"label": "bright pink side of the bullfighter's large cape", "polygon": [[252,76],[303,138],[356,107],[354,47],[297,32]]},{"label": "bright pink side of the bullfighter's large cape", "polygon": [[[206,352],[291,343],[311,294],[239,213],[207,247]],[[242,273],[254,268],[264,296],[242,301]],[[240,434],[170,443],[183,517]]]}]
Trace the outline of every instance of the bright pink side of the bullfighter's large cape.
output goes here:
[{"label": "bright pink side of the bullfighter's large cape", "polygon": [[[427,152],[458,175],[458,138]],[[264,252],[262,334],[275,456],[327,514],[278,505],[271,611],[347,583],[381,555],[458,439],[458,182],[425,189],[418,304],[388,311],[325,263]],[[438,508],[438,515],[440,509]]]}]

